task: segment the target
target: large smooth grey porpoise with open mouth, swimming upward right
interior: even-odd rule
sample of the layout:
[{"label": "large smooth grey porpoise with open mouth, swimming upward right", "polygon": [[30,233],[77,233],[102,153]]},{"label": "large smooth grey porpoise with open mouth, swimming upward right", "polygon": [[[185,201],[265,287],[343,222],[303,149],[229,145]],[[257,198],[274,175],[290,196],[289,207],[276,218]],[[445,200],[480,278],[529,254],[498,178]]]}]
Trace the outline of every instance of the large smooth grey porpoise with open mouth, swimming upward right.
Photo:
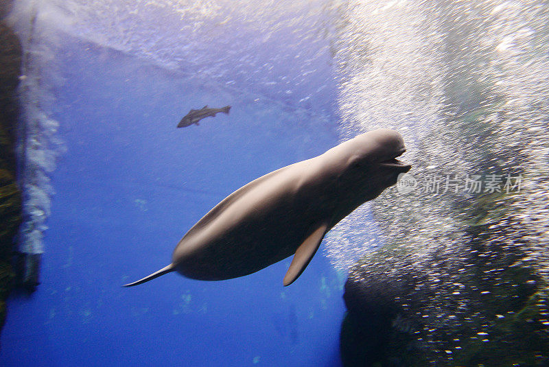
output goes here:
[{"label": "large smooth grey porpoise with open mouth, swimming upward right", "polygon": [[283,279],[290,285],[328,230],[410,169],[396,159],[405,151],[398,132],[373,130],[257,178],[202,217],[179,241],[170,265],[126,286],[173,271],[232,279],[295,254]]}]

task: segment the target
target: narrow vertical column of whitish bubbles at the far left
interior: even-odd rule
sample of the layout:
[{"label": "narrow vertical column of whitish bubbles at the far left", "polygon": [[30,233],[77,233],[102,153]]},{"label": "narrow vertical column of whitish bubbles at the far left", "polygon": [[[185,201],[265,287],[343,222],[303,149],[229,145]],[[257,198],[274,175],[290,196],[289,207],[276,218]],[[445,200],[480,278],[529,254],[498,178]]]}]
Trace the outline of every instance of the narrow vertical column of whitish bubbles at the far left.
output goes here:
[{"label": "narrow vertical column of whitish bubbles at the far left", "polygon": [[51,212],[49,174],[63,151],[56,132],[58,121],[51,118],[55,98],[51,83],[56,73],[56,33],[40,21],[35,1],[18,1],[10,14],[23,46],[23,75],[19,84],[21,117],[18,128],[18,180],[23,192],[23,224],[19,251],[40,254],[44,251],[43,231]]}]

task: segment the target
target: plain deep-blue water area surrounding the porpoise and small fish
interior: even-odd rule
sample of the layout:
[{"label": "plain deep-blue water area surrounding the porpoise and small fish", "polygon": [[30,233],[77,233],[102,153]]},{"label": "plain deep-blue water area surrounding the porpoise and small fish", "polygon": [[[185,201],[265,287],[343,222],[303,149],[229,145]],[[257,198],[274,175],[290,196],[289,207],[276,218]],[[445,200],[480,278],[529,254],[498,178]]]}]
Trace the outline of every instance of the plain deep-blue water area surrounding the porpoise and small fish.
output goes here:
[{"label": "plain deep-blue water area surrounding the porpoise and small fish", "polygon": [[[1,366],[340,366],[341,274],[319,251],[240,279],[167,274],[177,241],[229,193],[338,143],[335,124],[72,40],[55,91],[67,153],[45,235],[42,284],[14,294]],[[334,90],[334,86],[328,86]],[[176,129],[191,108],[229,116]]]}]

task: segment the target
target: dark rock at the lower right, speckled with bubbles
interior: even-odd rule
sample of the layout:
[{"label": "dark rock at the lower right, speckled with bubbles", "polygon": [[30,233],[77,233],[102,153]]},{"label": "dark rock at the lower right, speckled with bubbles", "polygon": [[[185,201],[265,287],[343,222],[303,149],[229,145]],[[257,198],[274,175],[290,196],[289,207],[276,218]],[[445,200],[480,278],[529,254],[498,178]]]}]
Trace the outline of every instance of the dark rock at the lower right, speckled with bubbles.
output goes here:
[{"label": "dark rock at the lower right, speckled with bubbles", "polygon": [[548,284],[508,230],[498,243],[471,226],[460,261],[457,249],[361,259],[345,285],[344,366],[548,366]]}]

